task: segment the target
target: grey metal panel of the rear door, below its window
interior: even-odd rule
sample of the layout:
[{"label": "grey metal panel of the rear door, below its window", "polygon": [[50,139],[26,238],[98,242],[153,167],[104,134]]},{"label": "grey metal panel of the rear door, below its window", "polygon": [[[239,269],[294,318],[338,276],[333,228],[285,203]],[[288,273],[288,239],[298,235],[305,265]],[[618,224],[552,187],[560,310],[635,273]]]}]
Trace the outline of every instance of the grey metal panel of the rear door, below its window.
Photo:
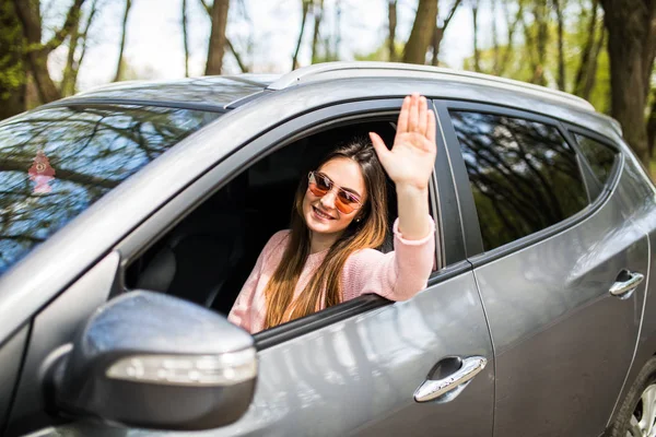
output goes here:
[{"label": "grey metal panel of the rear door, below its window", "polygon": [[622,269],[648,271],[647,238],[620,215],[619,196],[475,269],[495,347],[495,436],[604,432],[633,357],[646,284],[624,300],[609,288]]}]

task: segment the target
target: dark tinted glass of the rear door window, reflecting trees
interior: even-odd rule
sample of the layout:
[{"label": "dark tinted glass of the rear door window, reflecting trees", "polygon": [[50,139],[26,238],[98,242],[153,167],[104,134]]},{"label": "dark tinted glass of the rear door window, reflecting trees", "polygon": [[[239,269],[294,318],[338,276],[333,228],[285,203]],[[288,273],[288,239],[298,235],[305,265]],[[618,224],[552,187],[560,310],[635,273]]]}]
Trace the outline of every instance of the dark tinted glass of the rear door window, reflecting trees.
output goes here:
[{"label": "dark tinted glass of the rear door window, reflecting trees", "polygon": [[588,203],[574,151],[553,127],[452,111],[485,250],[551,226]]}]

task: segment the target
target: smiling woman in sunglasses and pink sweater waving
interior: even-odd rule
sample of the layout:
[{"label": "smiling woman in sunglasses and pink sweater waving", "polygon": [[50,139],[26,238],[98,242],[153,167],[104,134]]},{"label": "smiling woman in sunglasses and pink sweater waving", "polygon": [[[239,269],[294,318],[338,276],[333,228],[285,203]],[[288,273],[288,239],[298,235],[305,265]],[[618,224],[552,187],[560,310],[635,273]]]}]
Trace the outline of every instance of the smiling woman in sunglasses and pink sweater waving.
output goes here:
[{"label": "smiling woman in sunglasses and pink sweater waving", "polygon": [[[255,333],[363,294],[405,300],[425,287],[435,247],[429,214],[435,116],[425,97],[413,94],[403,101],[391,150],[378,134],[370,137],[373,147],[340,147],[303,178],[291,231],[269,239],[230,321]],[[385,255],[375,250],[387,229],[384,169],[395,182],[399,214],[395,250]]]}]

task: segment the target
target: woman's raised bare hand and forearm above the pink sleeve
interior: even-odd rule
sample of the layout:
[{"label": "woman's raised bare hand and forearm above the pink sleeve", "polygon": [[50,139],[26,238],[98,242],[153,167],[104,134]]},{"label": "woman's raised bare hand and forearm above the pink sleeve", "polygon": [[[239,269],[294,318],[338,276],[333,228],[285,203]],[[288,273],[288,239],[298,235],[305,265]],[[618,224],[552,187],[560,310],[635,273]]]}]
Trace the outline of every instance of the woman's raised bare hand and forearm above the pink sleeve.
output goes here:
[{"label": "woman's raised bare hand and forearm above the pink sleeve", "polygon": [[429,180],[435,165],[435,115],[426,98],[412,94],[403,99],[391,150],[370,132],[380,164],[396,185],[399,231],[405,239],[422,239],[431,232]]}]

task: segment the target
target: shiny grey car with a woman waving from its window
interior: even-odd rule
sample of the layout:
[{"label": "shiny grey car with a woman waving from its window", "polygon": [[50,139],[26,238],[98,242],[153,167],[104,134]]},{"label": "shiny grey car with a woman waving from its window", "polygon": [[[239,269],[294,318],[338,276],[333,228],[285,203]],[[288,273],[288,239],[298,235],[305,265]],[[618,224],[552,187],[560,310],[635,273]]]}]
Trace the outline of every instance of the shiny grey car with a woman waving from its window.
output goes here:
[{"label": "shiny grey car with a woman waving from its window", "polygon": [[[229,323],[300,178],[412,92],[427,287]],[[1,122],[0,178],[0,434],[656,436],[656,190],[577,97],[370,62],[118,83]]]}]

